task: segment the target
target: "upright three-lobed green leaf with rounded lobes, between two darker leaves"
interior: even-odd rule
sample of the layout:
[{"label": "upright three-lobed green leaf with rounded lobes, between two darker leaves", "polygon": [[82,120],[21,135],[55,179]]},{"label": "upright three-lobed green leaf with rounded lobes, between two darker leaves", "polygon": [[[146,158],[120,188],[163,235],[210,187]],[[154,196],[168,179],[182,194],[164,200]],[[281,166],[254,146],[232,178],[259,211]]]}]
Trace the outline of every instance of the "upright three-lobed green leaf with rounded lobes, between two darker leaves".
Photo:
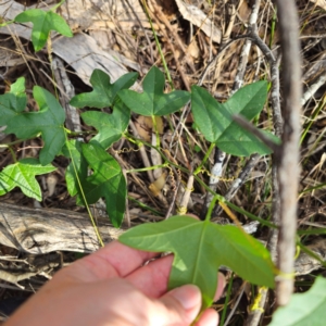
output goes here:
[{"label": "upright three-lobed green leaf with rounded lobes, between two darker leaves", "polygon": [[183,108],[189,101],[190,95],[183,90],[163,93],[164,84],[163,73],[153,66],[143,79],[142,93],[124,89],[118,92],[118,97],[131,111],[138,114],[146,116],[166,115]]}]

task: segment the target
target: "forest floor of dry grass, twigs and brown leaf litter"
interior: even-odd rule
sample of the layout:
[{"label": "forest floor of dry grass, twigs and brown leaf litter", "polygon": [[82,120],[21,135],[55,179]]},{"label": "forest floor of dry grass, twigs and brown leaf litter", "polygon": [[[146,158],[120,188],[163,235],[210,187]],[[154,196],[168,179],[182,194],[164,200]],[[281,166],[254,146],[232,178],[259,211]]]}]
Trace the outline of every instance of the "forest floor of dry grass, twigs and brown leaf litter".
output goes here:
[{"label": "forest floor of dry grass, twigs and brown leaf litter", "polygon": [[[36,103],[30,96],[33,86],[39,85],[54,95],[57,92],[52,80],[54,75],[61,104],[67,108],[68,99],[74,95],[91,91],[89,79],[95,68],[106,71],[112,83],[123,74],[136,71],[139,74],[137,87],[140,87],[143,77],[153,65],[164,72],[164,64],[166,64],[171,75],[171,80],[165,83],[166,91],[173,88],[190,90],[192,85],[202,80],[202,87],[209,90],[216,100],[225,102],[240,86],[271,79],[271,65],[266,57],[255,43],[248,45],[246,39],[239,38],[248,33],[252,22],[256,25],[258,36],[271,49],[281,70],[276,8],[269,0],[258,1],[260,7],[256,16],[252,14],[255,1],[189,0],[187,3],[179,0],[147,1],[163,60],[141,2],[137,0],[67,1],[67,4],[63,4],[58,13],[66,20],[74,37],[63,40],[64,37],[52,34],[52,45],[38,52],[35,52],[30,41],[24,38],[24,30],[17,35],[10,34],[0,27],[0,93],[9,91],[10,85],[24,76],[28,95],[27,106],[30,111],[36,110]],[[55,1],[0,1],[0,11],[1,7],[8,7],[8,3],[17,4],[15,10],[18,13],[20,10],[24,10],[24,5],[47,8],[52,7]],[[20,4],[24,5],[20,7]],[[319,0],[298,0],[297,5],[300,18],[304,93],[301,115],[298,229],[318,228],[322,233],[326,223],[326,4],[325,1]],[[8,11],[1,12],[2,16],[8,14]],[[5,18],[13,17],[5,16]],[[235,41],[230,42],[225,51],[221,51],[230,40]],[[247,47],[247,54],[243,52],[244,47]],[[51,55],[49,55],[49,49],[52,51]],[[214,58],[216,60],[212,61]],[[63,68],[53,70],[54,59]],[[202,78],[208,65],[211,68]],[[58,73],[60,70],[65,73]],[[283,80],[280,80],[280,93],[281,86]],[[264,110],[255,118],[255,125],[275,131],[271,105],[271,95],[268,95]],[[90,108],[77,110],[77,121],[76,118],[67,121],[72,130],[76,133],[82,130],[85,134],[91,134],[95,130],[79,120],[79,114],[88,110]],[[103,111],[108,112],[108,108]],[[67,115],[74,114],[76,113],[67,113]],[[161,147],[166,155],[177,165],[183,166],[184,171],[190,173],[197,168],[209,149],[209,142],[193,125],[193,116],[178,112],[168,117],[159,117],[156,124]],[[3,129],[0,131],[1,145],[16,140],[13,135],[5,135],[2,131]],[[142,115],[133,114],[128,133],[148,143],[156,141],[152,121]],[[87,137],[89,136],[85,136],[86,140]],[[17,159],[37,158],[40,148],[41,139],[38,137],[16,142],[12,147]],[[146,148],[145,153],[140,153],[139,149],[127,138],[116,141],[111,153],[117,158],[124,170],[147,167],[145,172],[127,175],[128,213],[125,225],[134,226],[145,222],[161,221],[166,217],[167,212],[170,215],[177,213],[183,193],[187,188],[189,173],[176,173],[171,167],[150,170],[151,166],[162,164],[160,158],[158,159],[149,147]],[[205,185],[209,185],[210,170],[214,164],[213,156],[211,155],[205,164],[203,173],[198,175]],[[233,181],[241,175],[243,170],[248,168],[249,160],[250,158],[243,156],[226,156],[216,189],[217,193],[226,196]],[[243,184],[237,188],[229,201],[254,216],[269,221],[273,214],[272,165],[274,162],[272,155],[255,156],[254,160],[254,165],[251,166],[246,180],[243,179]],[[12,162],[11,151],[0,148],[0,168],[4,168]],[[76,198],[71,197],[67,191],[65,170],[68,163],[65,156],[57,156],[53,161],[57,171],[37,177],[41,185],[41,201],[26,197],[18,188],[2,196],[1,201],[32,209],[61,209],[85,213],[85,208],[77,205]],[[187,205],[189,213],[199,216],[205,214],[205,188],[195,181]],[[92,209],[96,217],[105,216],[103,202],[95,204]],[[242,225],[251,222],[241,213],[234,212],[234,214]],[[213,216],[212,221],[223,224],[231,223],[225,212]],[[259,225],[254,233],[254,237],[263,241],[267,240],[267,235],[268,227],[263,225]],[[324,242],[322,236],[314,234],[301,236],[301,242],[310,246],[309,248],[323,260],[326,258],[326,241]],[[25,264],[22,262],[29,260],[30,255],[34,259],[33,254],[9,248],[3,243],[0,244],[0,269],[1,266],[10,265],[12,271],[16,268],[14,271],[16,274]],[[53,253],[46,255],[53,255]],[[63,251],[58,256],[63,258],[64,263],[70,263],[76,260],[78,254]],[[0,308],[1,301],[28,297],[62,264],[59,265],[57,264],[54,268],[49,267],[46,272],[42,271],[43,275],[35,275],[20,281],[20,287],[1,280]],[[314,262],[313,267],[306,267],[308,269],[298,273],[297,292],[306,291],[310,288],[316,275],[323,273],[319,267],[321,264]],[[225,273],[229,279],[231,272]],[[226,316],[230,318],[227,325],[243,325],[254,300],[253,292],[251,285],[243,283],[240,278],[234,279],[226,311]],[[225,300],[226,296],[216,302],[214,308],[221,312]],[[266,325],[271,321],[274,297],[271,294],[261,325]],[[4,314],[5,312],[8,311],[4,311]]]}]

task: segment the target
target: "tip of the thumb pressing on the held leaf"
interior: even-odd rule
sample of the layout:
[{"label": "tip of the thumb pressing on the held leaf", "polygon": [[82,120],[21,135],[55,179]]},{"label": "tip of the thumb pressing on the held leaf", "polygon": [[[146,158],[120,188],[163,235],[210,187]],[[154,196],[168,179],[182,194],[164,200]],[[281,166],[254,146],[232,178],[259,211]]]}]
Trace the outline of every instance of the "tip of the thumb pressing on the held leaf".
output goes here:
[{"label": "tip of the thumb pressing on the held leaf", "polygon": [[173,289],[159,299],[167,310],[166,324],[190,325],[201,308],[201,292],[195,285],[185,285]]}]

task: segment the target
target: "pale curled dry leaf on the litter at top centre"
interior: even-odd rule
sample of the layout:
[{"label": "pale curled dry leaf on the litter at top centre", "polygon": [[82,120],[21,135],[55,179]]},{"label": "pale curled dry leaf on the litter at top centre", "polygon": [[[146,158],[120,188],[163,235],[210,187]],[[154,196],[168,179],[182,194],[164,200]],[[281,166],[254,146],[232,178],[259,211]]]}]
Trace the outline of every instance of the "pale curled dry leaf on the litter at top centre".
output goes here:
[{"label": "pale curled dry leaf on the litter at top centre", "polygon": [[201,30],[209,37],[212,37],[214,42],[221,42],[221,30],[212,23],[212,21],[200,9],[195,5],[185,3],[181,0],[175,1],[183,17]]}]

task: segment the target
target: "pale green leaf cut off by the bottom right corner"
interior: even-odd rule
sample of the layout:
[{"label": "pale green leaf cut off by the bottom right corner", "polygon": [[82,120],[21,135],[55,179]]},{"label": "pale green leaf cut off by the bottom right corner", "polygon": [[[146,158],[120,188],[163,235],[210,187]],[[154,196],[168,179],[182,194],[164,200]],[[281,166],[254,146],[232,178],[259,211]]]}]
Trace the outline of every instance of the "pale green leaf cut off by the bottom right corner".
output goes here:
[{"label": "pale green leaf cut off by the bottom right corner", "polygon": [[269,326],[324,326],[326,319],[326,279],[317,277],[304,293],[292,294],[288,305],[278,308]]}]

